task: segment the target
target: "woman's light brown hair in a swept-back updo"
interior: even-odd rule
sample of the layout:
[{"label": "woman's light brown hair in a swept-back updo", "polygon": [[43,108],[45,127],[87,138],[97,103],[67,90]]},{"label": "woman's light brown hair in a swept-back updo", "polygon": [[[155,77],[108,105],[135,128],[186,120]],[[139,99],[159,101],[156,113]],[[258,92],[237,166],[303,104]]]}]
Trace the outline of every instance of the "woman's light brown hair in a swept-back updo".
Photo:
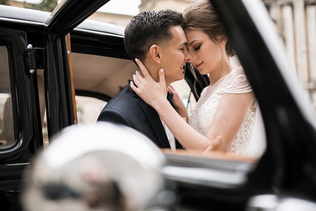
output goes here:
[{"label": "woman's light brown hair in a swept-back updo", "polygon": [[[227,37],[224,26],[220,21],[213,5],[207,0],[198,1],[186,7],[183,12],[183,30],[196,29],[203,30],[215,44],[220,46],[218,37],[224,35]],[[226,53],[229,57],[235,55],[235,51],[227,37],[225,46]]]}]

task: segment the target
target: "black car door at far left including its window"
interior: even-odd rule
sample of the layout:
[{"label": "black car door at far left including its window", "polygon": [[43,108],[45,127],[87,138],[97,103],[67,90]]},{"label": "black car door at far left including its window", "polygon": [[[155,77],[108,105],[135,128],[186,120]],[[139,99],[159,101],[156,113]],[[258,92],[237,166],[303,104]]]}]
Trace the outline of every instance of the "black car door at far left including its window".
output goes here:
[{"label": "black car door at far left including its window", "polygon": [[[3,8],[2,8],[3,9]],[[0,17],[0,198],[4,209],[19,207],[22,171],[43,147],[34,52],[28,48],[29,27],[23,20]],[[43,24],[38,24],[41,37]],[[37,51],[39,54],[41,50]],[[41,64],[37,64],[42,68]]]}]

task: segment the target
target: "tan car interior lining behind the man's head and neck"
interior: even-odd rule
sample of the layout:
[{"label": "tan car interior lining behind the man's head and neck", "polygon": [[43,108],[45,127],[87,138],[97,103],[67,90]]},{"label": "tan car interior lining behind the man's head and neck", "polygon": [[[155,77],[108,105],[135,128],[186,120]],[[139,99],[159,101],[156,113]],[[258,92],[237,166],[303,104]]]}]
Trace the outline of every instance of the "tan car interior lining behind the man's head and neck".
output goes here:
[{"label": "tan car interior lining behind the man's head and neck", "polygon": [[131,60],[72,53],[75,90],[111,99],[124,89],[136,70]]}]

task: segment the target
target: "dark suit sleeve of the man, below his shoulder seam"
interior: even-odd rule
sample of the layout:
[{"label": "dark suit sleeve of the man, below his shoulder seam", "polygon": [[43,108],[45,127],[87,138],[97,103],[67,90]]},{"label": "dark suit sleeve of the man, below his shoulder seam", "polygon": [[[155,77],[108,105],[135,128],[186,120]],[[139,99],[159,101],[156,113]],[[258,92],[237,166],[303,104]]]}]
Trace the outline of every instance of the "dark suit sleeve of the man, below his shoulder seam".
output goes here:
[{"label": "dark suit sleeve of the man, below his shoulder seam", "polygon": [[132,128],[132,125],[122,113],[111,108],[102,110],[99,117],[97,118],[97,121],[110,121],[124,124]]}]

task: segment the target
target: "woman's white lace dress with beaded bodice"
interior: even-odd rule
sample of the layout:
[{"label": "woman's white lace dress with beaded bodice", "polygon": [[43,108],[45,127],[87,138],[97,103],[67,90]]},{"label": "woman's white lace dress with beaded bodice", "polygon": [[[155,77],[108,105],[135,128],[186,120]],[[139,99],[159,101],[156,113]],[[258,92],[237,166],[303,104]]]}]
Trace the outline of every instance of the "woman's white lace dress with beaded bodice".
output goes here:
[{"label": "woman's white lace dress with beaded bodice", "polygon": [[[192,128],[205,136],[212,124],[223,94],[249,92],[252,92],[252,88],[244,74],[243,68],[234,68],[228,75],[214,83],[214,85],[204,88],[188,123]],[[253,99],[254,103],[249,107],[241,129],[227,149],[231,155],[245,157],[249,156],[250,152],[250,156],[257,157],[265,149],[265,143],[262,143],[265,142],[265,132],[262,123],[259,125],[256,135],[253,135],[258,110],[257,102],[255,98]],[[259,120],[262,121],[261,116]],[[260,140],[259,144],[251,144],[254,137]],[[250,149],[250,145],[253,149]]]}]

